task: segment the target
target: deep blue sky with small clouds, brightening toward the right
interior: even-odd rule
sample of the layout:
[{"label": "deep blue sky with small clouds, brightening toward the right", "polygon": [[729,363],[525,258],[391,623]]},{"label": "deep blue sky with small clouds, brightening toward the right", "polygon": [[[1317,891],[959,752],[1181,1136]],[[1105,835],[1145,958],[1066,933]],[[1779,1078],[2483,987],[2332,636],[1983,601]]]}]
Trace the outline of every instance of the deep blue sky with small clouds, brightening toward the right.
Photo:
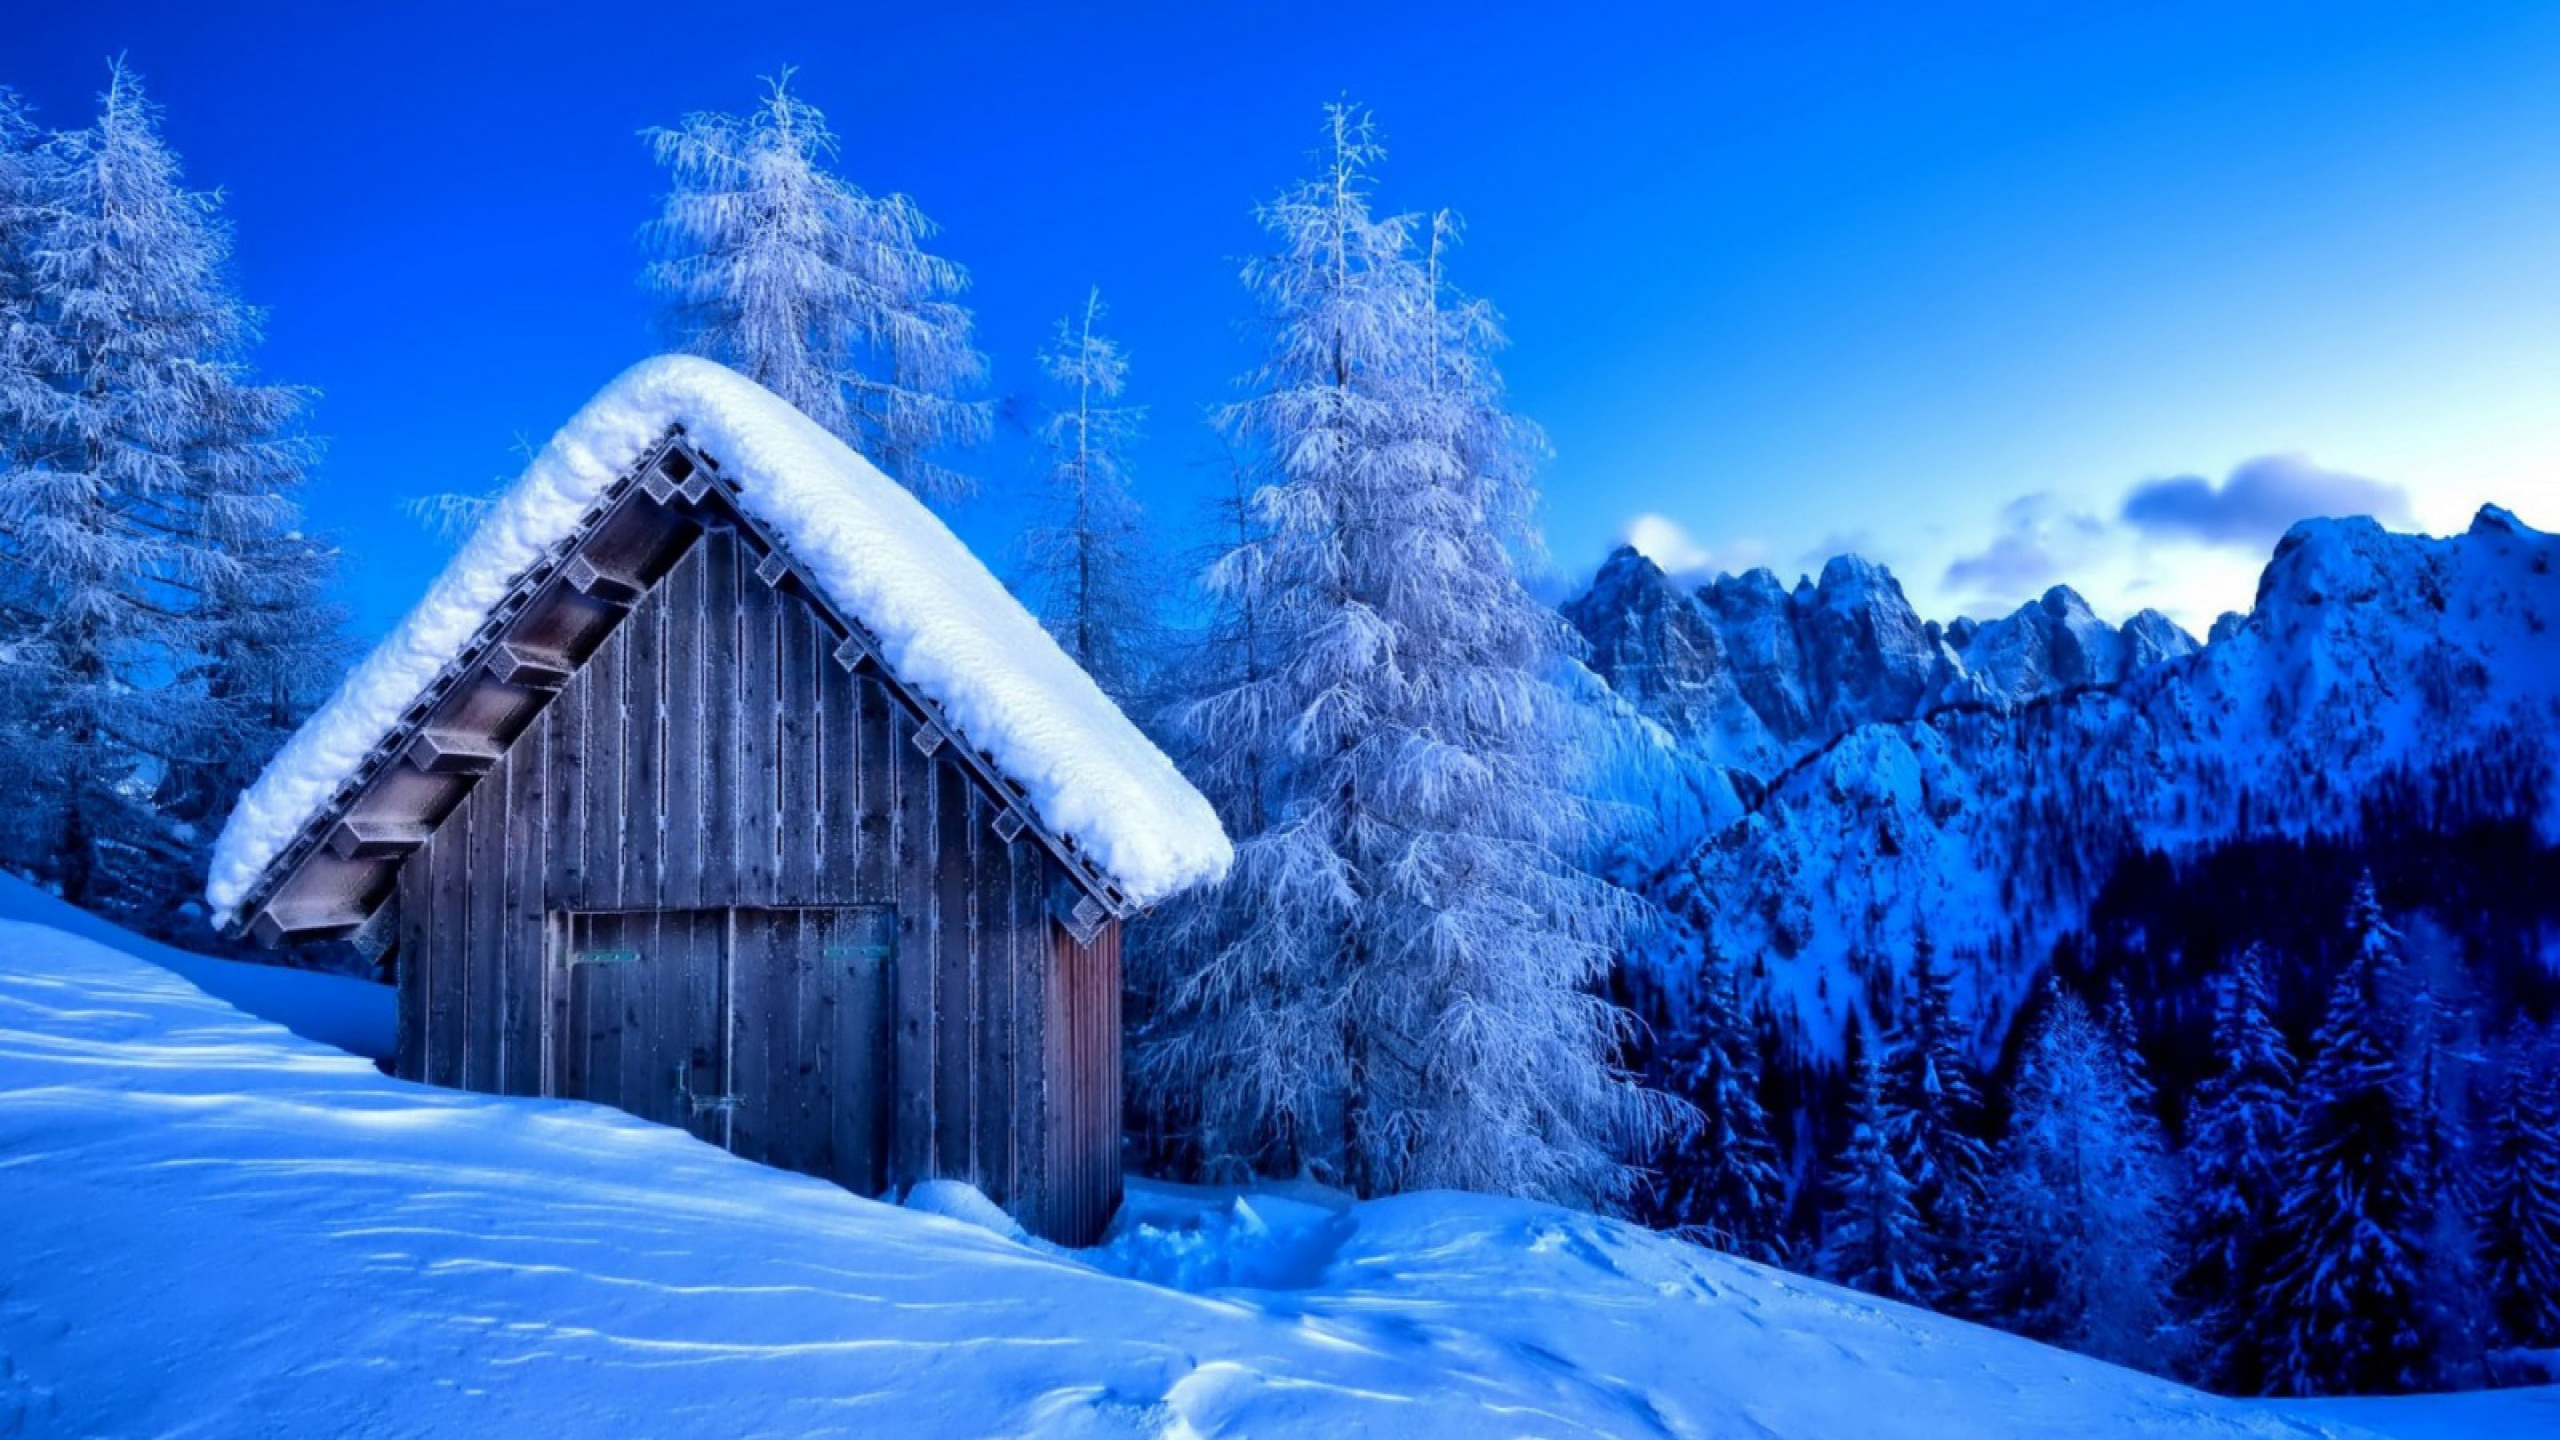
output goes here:
[{"label": "deep blue sky with small clouds, brightening toward the right", "polygon": [[[1167,528],[1252,359],[1252,205],[1336,95],[1388,205],[1469,220],[1559,571],[1636,525],[1789,577],[1856,546],[1933,615],[2071,579],[2202,628],[2286,510],[2560,523],[2552,5],[425,10],[20,0],[0,46],[56,126],[123,51],[223,187],[369,633],[445,553],[399,505],[653,348],[637,131],[783,64],[945,225],[998,395],[1103,287]],[[1001,559],[1032,461],[973,469]]]}]

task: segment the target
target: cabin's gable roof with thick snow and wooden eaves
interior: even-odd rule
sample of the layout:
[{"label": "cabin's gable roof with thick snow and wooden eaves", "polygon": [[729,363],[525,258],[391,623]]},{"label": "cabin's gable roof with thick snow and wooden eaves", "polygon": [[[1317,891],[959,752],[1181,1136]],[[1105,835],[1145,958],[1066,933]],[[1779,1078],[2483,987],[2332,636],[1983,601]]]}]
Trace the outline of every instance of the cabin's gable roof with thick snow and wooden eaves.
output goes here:
[{"label": "cabin's gable roof with thick snow and wooden eaves", "polygon": [[[760,384],[704,359],[660,356],[607,384],[553,436],[425,600],[241,794],[205,884],[215,922],[266,907],[297,869],[325,856],[323,840],[346,830],[387,771],[486,769],[438,717],[466,710],[466,682],[532,694],[522,717],[497,723],[512,738],[545,702],[538,692],[563,676],[545,674],[558,664],[527,659],[509,625],[538,594],[637,600],[655,579],[640,574],[650,533],[612,520],[653,510],[640,495],[676,505],[678,489],[684,505],[717,492],[735,507],[773,548],[765,579],[801,584],[845,630],[840,659],[876,664],[932,720],[932,735],[957,740],[957,758],[1014,807],[1006,838],[1039,833],[1114,912],[1226,874],[1231,848],[1208,802],[942,520]],[[614,536],[632,569],[620,579],[604,553]],[[387,853],[366,846],[358,833],[333,848],[348,861]],[[312,933],[346,933],[346,915],[369,915],[387,889],[364,879],[346,887],[356,894]],[[269,933],[294,935],[297,925]]]}]

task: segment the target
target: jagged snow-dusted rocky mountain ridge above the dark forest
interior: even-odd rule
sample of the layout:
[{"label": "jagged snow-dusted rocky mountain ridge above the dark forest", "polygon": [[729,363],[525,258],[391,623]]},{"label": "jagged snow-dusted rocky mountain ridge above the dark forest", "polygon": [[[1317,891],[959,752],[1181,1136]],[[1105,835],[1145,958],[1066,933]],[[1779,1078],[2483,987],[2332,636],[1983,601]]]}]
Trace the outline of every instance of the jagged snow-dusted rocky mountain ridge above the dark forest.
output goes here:
[{"label": "jagged snow-dusted rocky mountain ridge above the dark forest", "polygon": [[1889,1012],[1874,992],[1920,930],[1997,1045],[2138,851],[2345,833],[2381,787],[2455,820],[2527,807],[2560,838],[2555,571],[2560,541],[2486,507],[2447,538],[2307,520],[2207,646],[2068,589],[1935,625],[1846,556],[1795,589],[1756,571],[1692,592],[1620,551],[1567,618],[1710,797],[1623,866],[1674,917],[1649,963],[1677,986],[1702,945],[1746,956],[1823,1056]]}]

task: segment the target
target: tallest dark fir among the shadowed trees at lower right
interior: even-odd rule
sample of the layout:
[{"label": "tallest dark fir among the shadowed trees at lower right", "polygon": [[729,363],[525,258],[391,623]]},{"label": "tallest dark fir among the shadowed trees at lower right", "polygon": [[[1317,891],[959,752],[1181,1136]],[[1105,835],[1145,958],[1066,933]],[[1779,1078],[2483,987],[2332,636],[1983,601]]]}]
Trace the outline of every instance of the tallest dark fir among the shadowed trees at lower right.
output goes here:
[{"label": "tallest dark fir among the shadowed trees at lower right", "polygon": [[2355,887],[2350,930],[2355,953],[2301,1074],[2276,1261],[2255,1314],[2281,1394],[2399,1394],[2429,1379],[2422,1125],[2404,1068],[2399,933],[2371,876]]}]

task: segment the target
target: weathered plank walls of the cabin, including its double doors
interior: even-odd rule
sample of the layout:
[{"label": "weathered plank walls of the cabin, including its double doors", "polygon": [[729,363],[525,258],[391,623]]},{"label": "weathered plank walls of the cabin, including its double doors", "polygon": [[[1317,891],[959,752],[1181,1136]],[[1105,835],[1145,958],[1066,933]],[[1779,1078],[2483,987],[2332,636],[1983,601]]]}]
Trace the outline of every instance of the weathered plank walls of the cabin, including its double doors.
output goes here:
[{"label": "weathered plank walls of the cabin, including its double doors", "polygon": [[[1085,1240],[1119,1197],[1116,925],[1065,940],[1055,861],[1001,840],[950,751],[922,753],[916,717],[832,648],[753,548],[707,530],[402,866],[399,1074],[599,1097],[850,1184],[878,1148],[886,1184],[965,1179]],[[893,956],[819,984],[809,966],[852,963],[827,951],[873,945],[847,925],[891,925]],[[573,966],[581,948],[701,974],[643,984]],[[837,1015],[870,1004],[855,992],[876,1025]],[[689,1094],[737,1099],[712,1125],[653,1112],[622,1068],[666,1071],[643,1089],[673,1104],[707,1015],[724,1079]],[[847,1053],[870,1035],[883,1056]],[[878,1117],[835,1099],[868,1063]],[[1073,1199],[1052,1194],[1070,1171]]]}]

